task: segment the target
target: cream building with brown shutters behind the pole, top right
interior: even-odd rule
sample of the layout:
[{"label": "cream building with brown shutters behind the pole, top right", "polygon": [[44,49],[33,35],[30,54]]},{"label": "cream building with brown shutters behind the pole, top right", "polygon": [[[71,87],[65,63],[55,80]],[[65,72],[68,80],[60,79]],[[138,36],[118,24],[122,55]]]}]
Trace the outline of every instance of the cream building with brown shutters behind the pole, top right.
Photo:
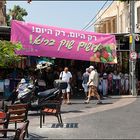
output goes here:
[{"label": "cream building with brown shutters behind the pole, top right", "polygon": [[[128,33],[130,31],[130,3],[114,1],[97,15],[94,30],[101,33]],[[140,32],[140,1],[135,1],[135,32]]]}]

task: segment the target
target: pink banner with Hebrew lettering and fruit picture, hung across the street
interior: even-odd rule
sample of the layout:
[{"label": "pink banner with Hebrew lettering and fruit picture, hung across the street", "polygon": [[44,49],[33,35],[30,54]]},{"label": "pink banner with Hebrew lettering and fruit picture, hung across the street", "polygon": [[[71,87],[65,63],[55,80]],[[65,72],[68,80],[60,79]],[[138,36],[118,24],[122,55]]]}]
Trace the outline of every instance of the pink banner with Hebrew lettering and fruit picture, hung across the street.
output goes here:
[{"label": "pink banner with Hebrew lettering and fruit picture, hung across the street", "polygon": [[114,35],[12,21],[11,41],[20,42],[19,55],[117,63]]}]

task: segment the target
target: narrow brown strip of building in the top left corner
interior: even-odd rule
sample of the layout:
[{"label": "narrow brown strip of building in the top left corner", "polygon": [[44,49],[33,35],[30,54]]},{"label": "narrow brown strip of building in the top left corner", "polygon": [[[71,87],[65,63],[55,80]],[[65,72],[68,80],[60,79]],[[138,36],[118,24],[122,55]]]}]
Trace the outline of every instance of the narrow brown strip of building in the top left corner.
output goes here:
[{"label": "narrow brown strip of building in the top left corner", "polygon": [[0,26],[6,26],[6,1],[0,1]]}]

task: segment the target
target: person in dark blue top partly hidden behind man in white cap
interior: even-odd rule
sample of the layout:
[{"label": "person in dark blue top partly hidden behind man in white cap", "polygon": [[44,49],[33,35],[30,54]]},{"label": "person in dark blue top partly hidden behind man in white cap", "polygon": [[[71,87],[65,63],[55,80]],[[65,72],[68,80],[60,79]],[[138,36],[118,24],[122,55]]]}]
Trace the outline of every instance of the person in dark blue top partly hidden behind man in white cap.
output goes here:
[{"label": "person in dark blue top partly hidden behind man in white cap", "polygon": [[84,93],[85,93],[85,97],[87,99],[87,96],[88,96],[88,80],[89,80],[89,68],[86,68],[86,72],[83,74],[83,77],[82,77],[82,86],[84,88]]}]

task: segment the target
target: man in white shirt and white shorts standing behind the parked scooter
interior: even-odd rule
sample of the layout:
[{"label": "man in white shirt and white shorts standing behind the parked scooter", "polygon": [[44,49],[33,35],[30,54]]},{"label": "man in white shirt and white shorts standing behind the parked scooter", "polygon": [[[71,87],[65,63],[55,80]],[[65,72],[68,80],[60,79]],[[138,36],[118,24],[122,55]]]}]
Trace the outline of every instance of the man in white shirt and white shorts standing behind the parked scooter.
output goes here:
[{"label": "man in white shirt and white shorts standing behind the parked scooter", "polygon": [[[60,79],[62,79],[63,81],[68,83],[68,87],[66,90],[62,90],[62,92],[64,93],[64,103],[70,104],[70,91],[71,91],[71,87],[70,87],[70,82],[72,79],[72,74],[71,72],[68,71],[68,67],[64,68],[64,71],[62,71],[60,73]],[[66,98],[65,98],[66,96]]]}]

